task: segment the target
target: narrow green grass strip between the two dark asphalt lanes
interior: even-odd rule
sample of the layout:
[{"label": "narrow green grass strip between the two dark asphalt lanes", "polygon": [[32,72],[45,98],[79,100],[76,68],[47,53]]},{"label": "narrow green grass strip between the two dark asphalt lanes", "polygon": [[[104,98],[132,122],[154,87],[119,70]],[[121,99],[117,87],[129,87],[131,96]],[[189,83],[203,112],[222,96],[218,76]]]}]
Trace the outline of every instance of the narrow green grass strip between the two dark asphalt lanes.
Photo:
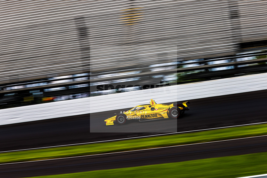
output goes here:
[{"label": "narrow green grass strip between the two dark asphalt lanes", "polygon": [[94,155],[109,152],[120,152],[146,148],[157,148],[163,146],[174,146],[193,144],[208,141],[219,141],[226,139],[244,138],[252,136],[267,135],[267,124],[225,128],[178,135],[166,135],[158,137],[147,137],[140,139],[129,139],[122,141],[64,146],[57,148],[45,148],[38,150],[26,150],[16,152],[0,153],[0,163],[35,161],[43,159],[64,158],[82,155]]}]

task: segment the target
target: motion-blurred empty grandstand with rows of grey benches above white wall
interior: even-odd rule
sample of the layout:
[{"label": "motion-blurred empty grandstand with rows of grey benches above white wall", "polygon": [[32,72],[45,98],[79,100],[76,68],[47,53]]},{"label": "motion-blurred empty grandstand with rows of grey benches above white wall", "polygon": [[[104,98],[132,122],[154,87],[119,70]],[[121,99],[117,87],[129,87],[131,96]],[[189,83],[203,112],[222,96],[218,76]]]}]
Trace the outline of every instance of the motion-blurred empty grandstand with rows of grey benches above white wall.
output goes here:
[{"label": "motion-blurred empty grandstand with rows of grey benches above white wall", "polygon": [[263,0],[0,6],[0,108],[267,72]]}]

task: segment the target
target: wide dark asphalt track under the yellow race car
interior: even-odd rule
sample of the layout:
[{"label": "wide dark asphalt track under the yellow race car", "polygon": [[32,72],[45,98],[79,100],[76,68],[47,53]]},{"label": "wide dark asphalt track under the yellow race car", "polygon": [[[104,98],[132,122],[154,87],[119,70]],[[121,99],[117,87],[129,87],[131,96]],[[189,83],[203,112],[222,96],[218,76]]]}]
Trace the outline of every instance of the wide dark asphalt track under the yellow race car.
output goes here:
[{"label": "wide dark asphalt track under the yellow race car", "polygon": [[0,151],[155,135],[176,131],[176,126],[180,132],[267,121],[267,90],[190,102],[190,110],[177,120],[177,125],[173,124],[176,120],[163,119],[105,126],[104,119],[114,115],[114,111],[107,111],[0,126]]}]

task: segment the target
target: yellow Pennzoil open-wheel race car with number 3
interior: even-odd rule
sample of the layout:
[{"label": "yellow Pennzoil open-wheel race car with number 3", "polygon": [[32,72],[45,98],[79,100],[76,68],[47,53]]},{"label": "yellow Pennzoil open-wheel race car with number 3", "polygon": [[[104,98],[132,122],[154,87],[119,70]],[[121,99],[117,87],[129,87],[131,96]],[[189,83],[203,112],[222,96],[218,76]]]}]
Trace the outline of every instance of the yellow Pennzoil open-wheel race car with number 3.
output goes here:
[{"label": "yellow Pennzoil open-wheel race car with number 3", "polygon": [[189,107],[186,105],[187,103],[190,102],[186,101],[184,103],[165,105],[157,104],[151,99],[150,104],[138,105],[130,110],[121,111],[118,115],[106,119],[106,126],[114,125],[114,123],[122,125],[130,119],[137,119],[139,122],[167,118],[177,119],[185,113],[186,110],[189,110]]}]

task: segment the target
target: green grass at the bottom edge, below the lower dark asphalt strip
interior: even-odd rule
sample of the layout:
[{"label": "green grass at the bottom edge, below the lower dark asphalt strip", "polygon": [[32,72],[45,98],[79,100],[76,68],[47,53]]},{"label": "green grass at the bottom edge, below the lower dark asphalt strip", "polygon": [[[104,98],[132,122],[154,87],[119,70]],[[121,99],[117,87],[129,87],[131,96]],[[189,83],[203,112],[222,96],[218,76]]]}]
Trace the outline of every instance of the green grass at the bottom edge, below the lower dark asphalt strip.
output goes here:
[{"label": "green grass at the bottom edge, below the lower dark asphalt strip", "polygon": [[[267,173],[267,152],[35,178],[234,178]],[[33,178],[33,177],[32,177]]]}]

